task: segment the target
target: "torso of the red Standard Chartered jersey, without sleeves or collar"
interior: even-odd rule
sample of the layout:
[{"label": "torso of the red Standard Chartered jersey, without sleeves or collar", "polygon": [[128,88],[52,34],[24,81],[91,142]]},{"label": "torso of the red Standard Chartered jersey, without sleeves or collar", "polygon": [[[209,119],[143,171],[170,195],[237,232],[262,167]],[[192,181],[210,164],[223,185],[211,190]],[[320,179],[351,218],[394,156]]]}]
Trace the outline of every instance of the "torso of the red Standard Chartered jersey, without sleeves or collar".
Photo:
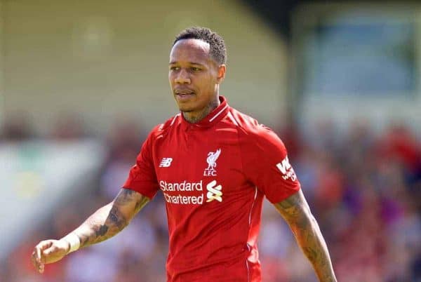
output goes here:
[{"label": "torso of the red Standard Chartered jersey, without sleeves or collar", "polygon": [[231,268],[227,281],[250,281],[260,270],[247,258],[262,195],[243,173],[237,128],[227,116],[206,127],[180,115],[171,122],[153,149],[170,232],[168,280],[225,281]]}]

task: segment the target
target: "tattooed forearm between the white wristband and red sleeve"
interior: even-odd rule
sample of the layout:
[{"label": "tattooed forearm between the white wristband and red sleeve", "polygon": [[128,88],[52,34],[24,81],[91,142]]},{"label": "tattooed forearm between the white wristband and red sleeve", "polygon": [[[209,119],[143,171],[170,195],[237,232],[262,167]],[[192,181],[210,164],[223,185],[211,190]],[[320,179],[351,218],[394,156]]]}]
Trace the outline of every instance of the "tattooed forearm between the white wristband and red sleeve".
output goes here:
[{"label": "tattooed forearm between the white wristband and red sleeve", "polygon": [[130,189],[121,189],[114,201],[98,209],[74,233],[81,240],[81,248],[105,241],[124,229],[149,201]]}]

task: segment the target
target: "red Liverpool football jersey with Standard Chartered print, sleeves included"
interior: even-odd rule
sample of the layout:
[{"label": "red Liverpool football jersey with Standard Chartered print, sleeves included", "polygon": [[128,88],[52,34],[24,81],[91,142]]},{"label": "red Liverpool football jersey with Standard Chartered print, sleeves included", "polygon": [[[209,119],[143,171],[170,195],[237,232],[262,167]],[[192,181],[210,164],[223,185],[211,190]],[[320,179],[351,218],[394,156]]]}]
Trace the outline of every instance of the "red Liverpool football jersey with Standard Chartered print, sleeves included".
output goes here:
[{"label": "red Liverpool football jersey with Standard Chartered print, sleeves included", "polygon": [[220,100],[199,123],[177,114],[156,126],[123,185],[163,193],[171,282],[261,281],[263,197],[279,203],[300,189],[279,137]]}]

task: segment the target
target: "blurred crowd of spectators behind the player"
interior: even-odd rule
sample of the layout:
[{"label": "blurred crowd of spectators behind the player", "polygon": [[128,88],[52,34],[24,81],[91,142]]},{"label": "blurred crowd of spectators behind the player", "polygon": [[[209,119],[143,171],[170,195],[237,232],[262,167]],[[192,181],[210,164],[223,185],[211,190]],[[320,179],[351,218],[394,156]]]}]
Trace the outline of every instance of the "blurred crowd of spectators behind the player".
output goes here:
[{"label": "blurred crowd of spectators behind the player", "polygon": [[[355,122],[345,130],[333,123],[300,132],[294,123],[275,129],[307,201],[328,243],[338,281],[421,281],[421,141],[404,124],[375,130]],[[58,239],[96,208],[111,201],[126,180],[147,135],[139,123],[117,121],[102,137],[109,150],[94,187],[60,206],[2,262],[4,282],[166,281],[166,208],[161,194],[121,234],[36,274],[29,256],[42,239]],[[78,140],[88,132],[74,117],[60,120],[49,138]],[[25,119],[6,122],[1,140],[34,135]],[[39,136],[38,136],[39,137]],[[263,281],[316,281],[288,226],[268,202],[260,231]]]}]

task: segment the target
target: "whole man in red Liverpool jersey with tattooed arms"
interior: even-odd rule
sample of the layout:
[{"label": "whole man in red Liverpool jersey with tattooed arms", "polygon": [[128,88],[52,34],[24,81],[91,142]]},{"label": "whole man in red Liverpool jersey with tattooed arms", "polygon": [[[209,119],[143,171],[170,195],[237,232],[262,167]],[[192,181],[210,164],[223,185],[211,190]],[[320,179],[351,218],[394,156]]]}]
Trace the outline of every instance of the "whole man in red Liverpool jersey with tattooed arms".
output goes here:
[{"label": "whole man in red Liverpool jersey with tattooed arms", "polygon": [[176,37],[168,78],[180,114],[152,129],[114,201],[62,239],[34,248],[39,272],[117,234],[161,190],[169,282],[262,281],[257,239],[264,196],[288,222],[319,281],[336,281],[283,143],[219,95],[225,60],[225,43],[210,29]]}]

